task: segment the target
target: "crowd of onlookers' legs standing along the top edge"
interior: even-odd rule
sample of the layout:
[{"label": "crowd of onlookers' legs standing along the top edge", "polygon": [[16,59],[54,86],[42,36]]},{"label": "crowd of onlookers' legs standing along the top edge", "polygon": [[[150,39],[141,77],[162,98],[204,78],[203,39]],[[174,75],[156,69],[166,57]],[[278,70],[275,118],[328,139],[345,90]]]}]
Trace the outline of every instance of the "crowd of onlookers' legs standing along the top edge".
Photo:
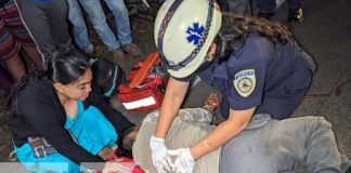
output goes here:
[{"label": "crowd of onlookers' legs standing along the top edge", "polygon": [[[252,1],[249,0],[218,2],[222,11],[233,13],[248,14],[252,6]],[[113,13],[116,31],[106,22],[102,3]],[[275,14],[277,3],[275,0],[257,1],[258,16],[270,19]],[[288,9],[289,22],[302,21],[302,0],[289,0]],[[132,41],[128,9],[123,0],[2,0],[0,89],[9,94],[12,84],[26,74],[21,50],[30,57],[36,68],[44,68],[47,59],[62,50],[79,49],[87,55],[94,55],[84,15],[106,45],[109,59],[117,62],[126,54],[134,57],[141,54],[141,49]],[[72,32],[69,25],[73,27]]]}]

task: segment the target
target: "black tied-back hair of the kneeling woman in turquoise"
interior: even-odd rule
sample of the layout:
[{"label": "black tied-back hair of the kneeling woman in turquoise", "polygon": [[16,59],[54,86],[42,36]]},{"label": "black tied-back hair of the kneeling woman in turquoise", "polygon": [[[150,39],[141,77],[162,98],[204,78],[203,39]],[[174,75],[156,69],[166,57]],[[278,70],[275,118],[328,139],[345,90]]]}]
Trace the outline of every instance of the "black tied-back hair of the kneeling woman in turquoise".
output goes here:
[{"label": "black tied-back hair of the kneeling woman in turquoise", "polygon": [[81,77],[86,69],[90,67],[86,55],[78,51],[56,53],[52,59],[48,61],[48,70],[38,69],[29,72],[16,84],[6,107],[9,116],[21,117],[17,101],[18,94],[29,83],[47,80],[52,83],[60,82],[62,84],[68,84]]}]

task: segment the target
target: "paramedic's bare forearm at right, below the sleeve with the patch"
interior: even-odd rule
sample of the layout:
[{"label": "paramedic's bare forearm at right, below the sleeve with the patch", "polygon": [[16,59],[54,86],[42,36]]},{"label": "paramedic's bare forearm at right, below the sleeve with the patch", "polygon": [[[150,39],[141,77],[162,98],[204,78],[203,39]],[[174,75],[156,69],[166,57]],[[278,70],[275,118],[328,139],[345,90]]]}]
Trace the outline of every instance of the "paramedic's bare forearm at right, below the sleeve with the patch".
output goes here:
[{"label": "paramedic's bare forearm at right, below the sleeve with the patch", "polygon": [[230,110],[230,118],[219,124],[211,133],[191,147],[191,154],[195,160],[223,146],[230,139],[239,134],[253,115],[256,107],[247,110]]}]

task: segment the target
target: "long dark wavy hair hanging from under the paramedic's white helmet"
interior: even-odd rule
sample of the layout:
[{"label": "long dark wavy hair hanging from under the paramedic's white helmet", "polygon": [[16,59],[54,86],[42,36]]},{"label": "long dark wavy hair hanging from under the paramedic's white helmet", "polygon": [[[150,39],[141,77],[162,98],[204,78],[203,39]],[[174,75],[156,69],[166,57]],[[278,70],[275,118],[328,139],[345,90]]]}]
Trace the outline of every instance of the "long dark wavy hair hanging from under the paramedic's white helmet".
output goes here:
[{"label": "long dark wavy hair hanging from under the paramedic's white helmet", "polygon": [[273,43],[282,44],[285,44],[291,37],[286,25],[263,18],[223,13],[222,27],[214,39],[216,56],[219,58],[219,63],[225,62],[232,52],[239,50],[247,36],[253,32],[268,38]]}]

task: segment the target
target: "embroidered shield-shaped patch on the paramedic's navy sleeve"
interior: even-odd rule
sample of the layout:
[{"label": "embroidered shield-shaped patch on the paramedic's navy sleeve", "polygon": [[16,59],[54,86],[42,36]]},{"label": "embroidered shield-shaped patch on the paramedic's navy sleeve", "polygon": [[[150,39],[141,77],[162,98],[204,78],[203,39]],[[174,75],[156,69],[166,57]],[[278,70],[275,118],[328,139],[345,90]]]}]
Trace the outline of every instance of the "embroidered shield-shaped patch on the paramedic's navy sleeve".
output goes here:
[{"label": "embroidered shield-shaped patch on the paramedic's navy sleeve", "polygon": [[243,97],[249,96],[256,86],[255,69],[245,69],[234,76],[234,86]]}]

